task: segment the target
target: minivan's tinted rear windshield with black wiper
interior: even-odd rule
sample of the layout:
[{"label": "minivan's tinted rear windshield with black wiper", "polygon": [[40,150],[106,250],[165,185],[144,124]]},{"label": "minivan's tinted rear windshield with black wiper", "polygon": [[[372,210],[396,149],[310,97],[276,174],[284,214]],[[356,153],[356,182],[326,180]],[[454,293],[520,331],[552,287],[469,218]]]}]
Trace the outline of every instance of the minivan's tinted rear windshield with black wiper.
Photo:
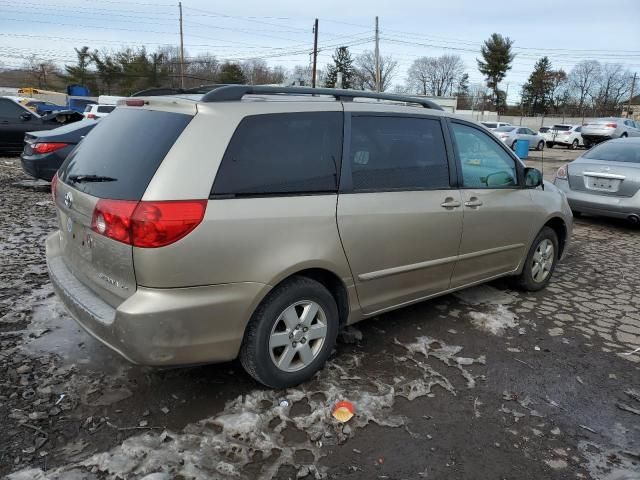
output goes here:
[{"label": "minivan's tinted rear windshield with black wiper", "polygon": [[182,113],[117,108],[71,152],[58,175],[95,197],[140,200],[192,118]]}]

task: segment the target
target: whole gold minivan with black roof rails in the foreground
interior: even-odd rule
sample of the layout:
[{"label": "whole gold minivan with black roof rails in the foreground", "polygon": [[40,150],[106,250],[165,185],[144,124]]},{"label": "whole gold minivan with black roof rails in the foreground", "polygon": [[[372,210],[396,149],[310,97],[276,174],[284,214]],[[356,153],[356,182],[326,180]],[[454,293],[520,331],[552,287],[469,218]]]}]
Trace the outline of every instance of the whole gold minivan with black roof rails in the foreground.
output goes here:
[{"label": "whole gold minivan with black roof rails in the foreground", "polygon": [[572,229],[485,128],[349,90],[122,100],[52,190],[49,275],[91,335],[146,365],[239,356],[271,387],[311,377],[344,325],[503,276],[543,288]]}]

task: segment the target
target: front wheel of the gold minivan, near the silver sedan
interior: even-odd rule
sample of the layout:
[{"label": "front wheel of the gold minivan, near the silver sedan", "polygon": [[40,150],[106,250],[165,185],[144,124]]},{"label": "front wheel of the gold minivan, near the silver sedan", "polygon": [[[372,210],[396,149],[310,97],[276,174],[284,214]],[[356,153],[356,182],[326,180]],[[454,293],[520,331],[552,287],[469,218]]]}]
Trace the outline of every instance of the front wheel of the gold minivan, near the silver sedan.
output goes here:
[{"label": "front wheel of the gold minivan, near the silver sedan", "polygon": [[[552,250],[546,254],[548,256],[545,256],[544,251],[547,251],[549,245],[552,246]],[[539,249],[543,250],[543,256],[540,261],[536,260],[541,254],[538,251]],[[515,278],[516,286],[527,292],[537,292],[546,287],[558,263],[558,251],[558,236],[556,232],[549,227],[544,227],[531,244],[522,273]],[[538,266],[537,269],[536,265]],[[542,274],[538,273],[540,268],[542,268]]]}]

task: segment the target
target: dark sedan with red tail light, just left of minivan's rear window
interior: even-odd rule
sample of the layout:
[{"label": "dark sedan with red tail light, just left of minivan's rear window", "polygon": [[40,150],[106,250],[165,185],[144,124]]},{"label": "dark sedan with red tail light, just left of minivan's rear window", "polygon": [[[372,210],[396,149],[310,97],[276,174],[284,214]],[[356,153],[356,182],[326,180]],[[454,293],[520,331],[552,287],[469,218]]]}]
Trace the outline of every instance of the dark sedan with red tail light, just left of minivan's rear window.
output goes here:
[{"label": "dark sedan with red tail light, just left of minivan's rear window", "polygon": [[25,135],[22,169],[35,178],[51,181],[67,155],[98,122],[86,120],[53,130],[29,132]]}]

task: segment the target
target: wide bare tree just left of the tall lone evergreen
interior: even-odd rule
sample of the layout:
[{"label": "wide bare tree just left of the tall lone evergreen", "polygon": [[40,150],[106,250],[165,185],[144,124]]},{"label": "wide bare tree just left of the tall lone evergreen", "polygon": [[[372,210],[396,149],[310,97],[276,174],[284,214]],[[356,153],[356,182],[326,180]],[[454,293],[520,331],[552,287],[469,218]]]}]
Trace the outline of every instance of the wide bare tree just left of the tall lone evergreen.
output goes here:
[{"label": "wide bare tree just left of the tall lone evergreen", "polygon": [[408,86],[416,93],[442,97],[453,94],[464,74],[464,64],[458,55],[420,57],[408,72]]}]

